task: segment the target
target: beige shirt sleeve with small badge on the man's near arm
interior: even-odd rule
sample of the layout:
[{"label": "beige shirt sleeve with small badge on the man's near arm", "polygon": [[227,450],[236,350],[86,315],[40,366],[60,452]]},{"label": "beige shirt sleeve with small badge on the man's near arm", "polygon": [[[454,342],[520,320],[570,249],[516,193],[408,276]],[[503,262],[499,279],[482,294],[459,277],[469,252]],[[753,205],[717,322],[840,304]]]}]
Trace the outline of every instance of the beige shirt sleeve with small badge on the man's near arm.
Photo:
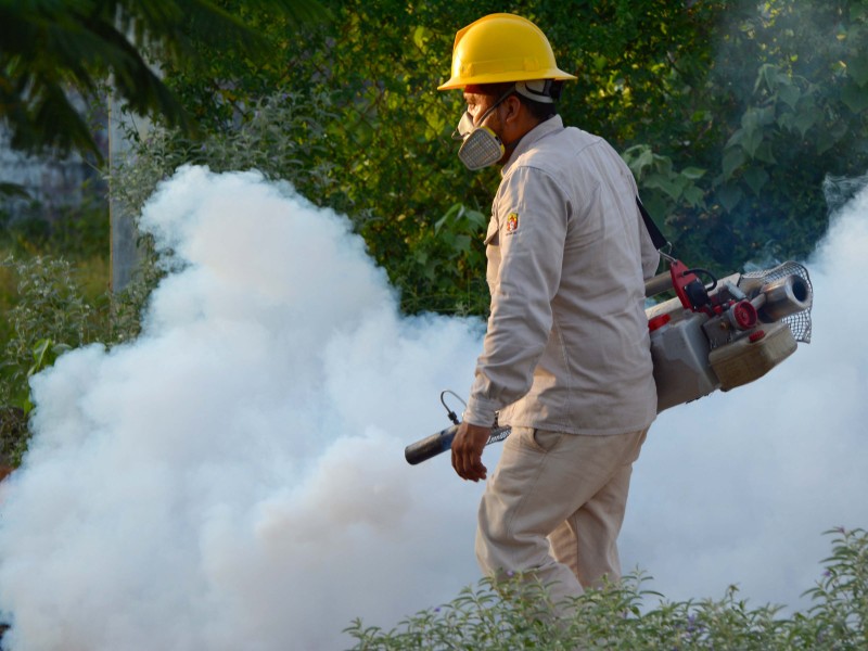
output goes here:
[{"label": "beige shirt sleeve with small badge on the man's near arm", "polygon": [[566,193],[539,169],[519,167],[501,181],[488,244],[489,265],[493,253],[500,264],[488,279],[492,314],[464,411],[470,423],[490,425],[532,386],[551,332],[570,210]]}]

